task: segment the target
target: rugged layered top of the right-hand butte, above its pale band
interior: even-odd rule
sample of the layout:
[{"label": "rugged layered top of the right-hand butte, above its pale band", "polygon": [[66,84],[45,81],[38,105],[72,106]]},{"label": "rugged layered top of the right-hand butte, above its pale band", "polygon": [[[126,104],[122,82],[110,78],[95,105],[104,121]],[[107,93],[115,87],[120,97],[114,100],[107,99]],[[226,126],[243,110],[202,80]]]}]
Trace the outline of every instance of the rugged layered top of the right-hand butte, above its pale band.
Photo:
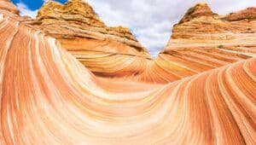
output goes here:
[{"label": "rugged layered top of the right-hand butte, above its pale band", "polygon": [[[202,5],[202,6],[201,6]],[[172,29],[172,39],[168,45],[172,44],[172,40],[176,39],[199,39],[199,40],[217,40],[216,44],[221,44],[222,40],[235,39],[237,34],[252,34],[256,32],[255,18],[256,8],[241,10],[228,15],[214,14],[211,9],[207,9],[207,13],[200,13],[199,8],[209,8],[206,3],[196,4],[195,7],[199,12],[195,14],[187,12],[183,19]],[[212,13],[211,13],[212,12]],[[189,18],[189,19],[188,19]]]}]

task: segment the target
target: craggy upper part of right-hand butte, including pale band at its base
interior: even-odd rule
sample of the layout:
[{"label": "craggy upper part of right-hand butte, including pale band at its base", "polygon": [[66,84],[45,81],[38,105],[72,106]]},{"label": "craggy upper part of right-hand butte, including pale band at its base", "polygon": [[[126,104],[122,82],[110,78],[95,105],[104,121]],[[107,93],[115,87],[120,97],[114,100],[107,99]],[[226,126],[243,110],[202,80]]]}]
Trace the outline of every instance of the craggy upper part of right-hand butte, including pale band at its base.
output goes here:
[{"label": "craggy upper part of right-hand butte, including pale band at its base", "polygon": [[[202,6],[201,6],[202,5]],[[206,3],[196,4],[191,9],[209,8]],[[200,12],[203,10],[199,10]],[[164,51],[168,49],[185,48],[183,44],[197,44],[198,46],[212,44],[218,46],[248,44],[253,43],[256,33],[256,8],[241,10],[237,13],[228,15],[214,14],[210,9],[206,10],[206,14],[192,13],[185,14],[180,23],[173,26],[172,38]],[[190,19],[186,19],[186,18]],[[247,42],[241,41],[242,38],[247,38]],[[184,43],[183,43],[184,42]],[[180,46],[180,47],[179,47]],[[187,46],[186,46],[187,47]],[[254,51],[252,51],[254,53]]]}]

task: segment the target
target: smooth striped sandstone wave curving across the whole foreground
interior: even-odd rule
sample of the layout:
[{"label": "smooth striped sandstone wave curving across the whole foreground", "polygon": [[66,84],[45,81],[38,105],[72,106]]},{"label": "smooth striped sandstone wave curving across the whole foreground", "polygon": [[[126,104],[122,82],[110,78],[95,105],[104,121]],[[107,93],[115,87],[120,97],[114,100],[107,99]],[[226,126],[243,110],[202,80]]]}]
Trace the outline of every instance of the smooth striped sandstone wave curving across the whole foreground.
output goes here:
[{"label": "smooth striped sandstone wave curving across the whole foreground", "polygon": [[22,20],[0,9],[1,144],[256,143],[255,58],[169,84],[108,81]]}]

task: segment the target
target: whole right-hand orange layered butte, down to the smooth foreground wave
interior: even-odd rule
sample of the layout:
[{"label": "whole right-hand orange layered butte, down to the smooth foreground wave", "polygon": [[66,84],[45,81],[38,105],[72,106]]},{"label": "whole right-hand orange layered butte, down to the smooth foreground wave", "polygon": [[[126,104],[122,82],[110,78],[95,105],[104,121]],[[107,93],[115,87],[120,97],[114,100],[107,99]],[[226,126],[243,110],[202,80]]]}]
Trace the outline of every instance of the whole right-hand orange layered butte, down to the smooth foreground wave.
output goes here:
[{"label": "whole right-hand orange layered butte, down to the smooth foreground wave", "polygon": [[256,9],[253,7],[218,15],[207,3],[196,4],[173,27],[166,48],[140,79],[172,82],[255,57],[255,17]]}]

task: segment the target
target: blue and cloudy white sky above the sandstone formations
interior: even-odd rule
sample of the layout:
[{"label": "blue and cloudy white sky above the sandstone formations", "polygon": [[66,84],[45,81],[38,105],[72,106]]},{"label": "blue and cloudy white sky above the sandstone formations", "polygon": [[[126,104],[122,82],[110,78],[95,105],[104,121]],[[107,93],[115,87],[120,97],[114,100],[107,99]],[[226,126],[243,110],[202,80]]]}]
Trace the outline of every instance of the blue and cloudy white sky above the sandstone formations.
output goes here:
[{"label": "blue and cloudy white sky above the sandstone formations", "polygon": [[[35,17],[48,0],[11,0],[21,15]],[[65,3],[67,0],[55,0]],[[108,26],[130,28],[149,53],[156,57],[171,34],[172,26],[195,3],[205,2],[218,14],[256,7],[256,0],[87,0]]]}]

